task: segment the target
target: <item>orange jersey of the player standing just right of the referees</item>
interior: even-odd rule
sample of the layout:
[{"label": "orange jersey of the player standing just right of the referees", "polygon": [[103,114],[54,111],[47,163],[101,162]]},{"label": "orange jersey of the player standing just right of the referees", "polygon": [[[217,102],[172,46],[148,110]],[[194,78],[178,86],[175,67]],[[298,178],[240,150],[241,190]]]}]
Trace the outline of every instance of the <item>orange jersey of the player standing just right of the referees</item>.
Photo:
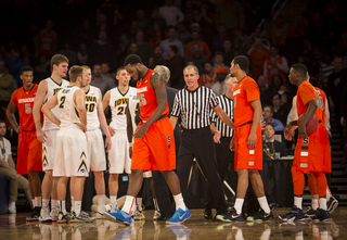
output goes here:
[{"label": "orange jersey of the player standing just right of the referees", "polygon": [[245,76],[235,85],[233,93],[235,126],[253,121],[254,109],[250,102],[259,99],[259,87],[253,78]]}]

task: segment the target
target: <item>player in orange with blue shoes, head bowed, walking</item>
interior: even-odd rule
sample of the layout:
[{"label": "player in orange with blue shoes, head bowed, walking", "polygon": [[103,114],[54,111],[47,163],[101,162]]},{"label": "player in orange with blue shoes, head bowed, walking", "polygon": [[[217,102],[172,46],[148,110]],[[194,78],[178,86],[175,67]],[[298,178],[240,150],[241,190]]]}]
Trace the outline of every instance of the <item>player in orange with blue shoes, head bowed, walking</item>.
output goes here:
[{"label": "player in orange with blue shoes, head bowed, walking", "polygon": [[142,181],[143,170],[160,170],[176,202],[174,216],[167,224],[180,224],[191,214],[184,204],[179,179],[175,173],[176,153],[174,129],[167,114],[167,93],[165,81],[153,70],[142,64],[141,58],[130,54],[125,60],[125,68],[137,80],[140,99],[140,119],[133,137],[131,178],[126,202],[121,210],[105,212],[106,218],[130,225],[131,209]]}]

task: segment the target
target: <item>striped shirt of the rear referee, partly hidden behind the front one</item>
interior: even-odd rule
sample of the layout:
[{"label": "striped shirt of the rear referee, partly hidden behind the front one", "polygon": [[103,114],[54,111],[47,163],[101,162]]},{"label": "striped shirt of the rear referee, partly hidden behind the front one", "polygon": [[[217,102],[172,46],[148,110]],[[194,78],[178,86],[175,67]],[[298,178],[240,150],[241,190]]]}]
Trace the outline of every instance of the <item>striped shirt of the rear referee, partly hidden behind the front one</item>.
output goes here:
[{"label": "striped shirt of the rear referee, partly hidden behind the front one", "polygon": [[[230,119],[233,118],[232,111],[232,99],[228,98],[226,94],[219,96],[217,98],[220,109],[222,109]],[[214,123],[216,123],[216,128],[220,131],[221,137],[232,137],[233,129],[231,129],[227,124],[224,124],[215,113],[215,111],[210,112],[210,117]]]}]

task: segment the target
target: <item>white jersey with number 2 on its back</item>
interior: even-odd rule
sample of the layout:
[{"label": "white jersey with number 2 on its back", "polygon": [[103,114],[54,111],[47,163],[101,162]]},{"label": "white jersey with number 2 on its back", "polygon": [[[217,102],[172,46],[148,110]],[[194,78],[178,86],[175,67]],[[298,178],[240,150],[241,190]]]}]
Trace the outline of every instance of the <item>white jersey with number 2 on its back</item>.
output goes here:
[{"label": "white jersey with number 2 on its back", "polygon": [[57,92],[59,113],[61,115],[61,128],[76,127],[80,123],[77,105],[74,102],[74,93],[80,89],[77,86],[70,86]]}]

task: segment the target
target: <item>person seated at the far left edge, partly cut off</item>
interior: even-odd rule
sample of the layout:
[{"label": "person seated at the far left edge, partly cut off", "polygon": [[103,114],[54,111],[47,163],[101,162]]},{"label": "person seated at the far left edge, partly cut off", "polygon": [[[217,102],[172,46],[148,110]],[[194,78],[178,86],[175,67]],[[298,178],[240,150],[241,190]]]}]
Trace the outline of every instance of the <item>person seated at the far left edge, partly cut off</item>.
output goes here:
[{"label": "person seated at the far left edge, partly cut off", "polygon": [[17,201],[18,189],[23,189],[30,206],[33,201],[29,191],[28,180],[22,175],[17,175],[15,164],[12,159],[11,142],[4,138],[7,134],[7,125],[0,119],[0,174],[5,176],[9,182],[10,203],[9,212],[16,213],[15,202]]}]

